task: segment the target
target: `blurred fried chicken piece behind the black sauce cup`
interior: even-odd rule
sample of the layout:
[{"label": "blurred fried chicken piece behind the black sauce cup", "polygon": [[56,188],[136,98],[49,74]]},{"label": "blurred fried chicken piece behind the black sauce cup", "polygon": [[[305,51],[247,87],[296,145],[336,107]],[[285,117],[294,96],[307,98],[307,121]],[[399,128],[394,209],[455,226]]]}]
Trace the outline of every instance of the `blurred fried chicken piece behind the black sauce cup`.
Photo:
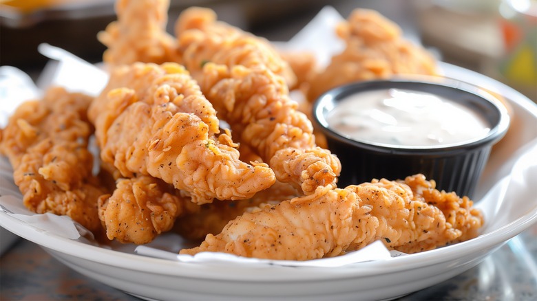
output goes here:
[{"label": "blurred fried chicken piece behind the black sauce cup", "polygon": [[336,33],[346,48],[310,81],[307,98],[311,102],[325,91],[349,82],[396,74],[437,74],[433,56],[406,41],[401,28],[375,10],[353,10]]}]

